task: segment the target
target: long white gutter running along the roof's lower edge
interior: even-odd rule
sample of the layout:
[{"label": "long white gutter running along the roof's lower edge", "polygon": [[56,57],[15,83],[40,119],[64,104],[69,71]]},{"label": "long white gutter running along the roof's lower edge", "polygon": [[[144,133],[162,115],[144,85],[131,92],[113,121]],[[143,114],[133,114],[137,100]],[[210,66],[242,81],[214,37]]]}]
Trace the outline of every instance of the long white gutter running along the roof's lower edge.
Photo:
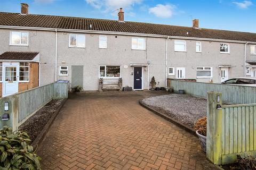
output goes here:
[{"label": "long white gutter running along the roof's lower edge", "polygon": [[[20,27],[20,26],[8,26],[0,25],[0,29],[21,29],[21,30],[41,30],[41,31],[56,31],[56,28],[42,28],[42,27]],[[73,29],[58,29],[63,32],[81,32],[81,33],[97,33],[106,35],[125,35],[125,36],[141,36],[141,37],[158,37],[158,38],[175,38],[175,39],[189,39],[189,40],[205,40],[205,41],[218,41],[218,42],[229,42],[229,43],[248,43],[256,44],[252,41],[237,41],[237,40],[226,40],[226,39],[212,39],[212,38],[198,38],[198,37],[182,37],[182,36],[165,36],[165,35],[154,35],[147,33],[127,33],[127,32],[114,32],[114,31],[95,31],[95,30],[73,30]]]}]

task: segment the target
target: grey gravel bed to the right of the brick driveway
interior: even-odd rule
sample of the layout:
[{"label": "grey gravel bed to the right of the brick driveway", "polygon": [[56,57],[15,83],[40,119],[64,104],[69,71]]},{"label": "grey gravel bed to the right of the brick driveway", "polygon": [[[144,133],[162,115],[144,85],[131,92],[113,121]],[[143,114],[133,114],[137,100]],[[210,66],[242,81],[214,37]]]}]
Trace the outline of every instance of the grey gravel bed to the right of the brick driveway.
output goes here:
[{"label": "grey gravel bed to the right of the brick driveway", "polygon": [[142,102],[190,128],[194,128],[195,122],[207,113],[207,100],[190,95],[170,94],[149,97]]}]

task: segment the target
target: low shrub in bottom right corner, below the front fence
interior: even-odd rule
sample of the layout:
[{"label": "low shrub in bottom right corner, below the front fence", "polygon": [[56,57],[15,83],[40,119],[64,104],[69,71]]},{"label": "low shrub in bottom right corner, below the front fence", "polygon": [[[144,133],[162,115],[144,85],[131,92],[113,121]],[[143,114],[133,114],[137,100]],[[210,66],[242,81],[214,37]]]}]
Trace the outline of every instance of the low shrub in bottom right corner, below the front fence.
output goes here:
[{"label": "low shrub in bottom right corner, below the front fence", "polygon": [[243,157],[243,156],[237,155],[236,160],[240,168],[243,170],[256,169],[256,158],[253,158],[251,156]]}]

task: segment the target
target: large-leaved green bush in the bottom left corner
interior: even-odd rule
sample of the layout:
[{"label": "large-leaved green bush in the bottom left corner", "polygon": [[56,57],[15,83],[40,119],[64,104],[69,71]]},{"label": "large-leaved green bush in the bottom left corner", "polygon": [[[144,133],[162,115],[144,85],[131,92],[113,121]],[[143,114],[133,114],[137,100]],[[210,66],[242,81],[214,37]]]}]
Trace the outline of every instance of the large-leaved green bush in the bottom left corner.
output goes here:
[{"label": "large-leaved green bush in the bottom left corner", "polygon": [[0,170],[41,169],[39,156],[29,145],[27,132],[12,132],[4,126],[0,130]]}]

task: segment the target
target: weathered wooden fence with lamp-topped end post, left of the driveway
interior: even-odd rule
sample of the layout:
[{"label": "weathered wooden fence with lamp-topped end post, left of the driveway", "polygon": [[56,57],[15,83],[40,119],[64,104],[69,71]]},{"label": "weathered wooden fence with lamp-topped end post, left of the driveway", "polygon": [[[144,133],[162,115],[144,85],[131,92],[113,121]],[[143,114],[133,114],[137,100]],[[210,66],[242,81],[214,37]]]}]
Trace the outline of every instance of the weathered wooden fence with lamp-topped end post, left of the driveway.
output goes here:
[{"label": "weathered wooden fence with lamp-topped end post, left of the driveway", "polygon": [[7,125],[18,130],[30,116],[52,99],[68,97],[68,83],[51,83],[0,98],[0,113],[9,114],[9,120],[1,120],[0,128]]}]

